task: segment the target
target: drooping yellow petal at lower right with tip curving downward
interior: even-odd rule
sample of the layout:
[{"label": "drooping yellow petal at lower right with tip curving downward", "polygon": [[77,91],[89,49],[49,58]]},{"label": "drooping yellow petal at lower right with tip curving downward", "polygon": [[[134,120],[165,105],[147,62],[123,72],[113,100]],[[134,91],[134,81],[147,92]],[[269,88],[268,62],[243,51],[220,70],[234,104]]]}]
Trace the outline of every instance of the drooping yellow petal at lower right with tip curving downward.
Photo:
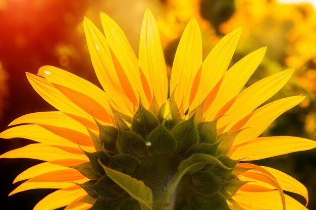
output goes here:
[{"label": "drooping yellow petal at lower right with tip curving downward", "polygon": [[266,166],[261,166],[261,167],[269,171],[278,180],[283,190],[302,195],[305,198],[306,205],[307,205],[308,192],[307,192],[306,187],[302,183],[300,183],[293,177],[277,169],[266,167]]}]

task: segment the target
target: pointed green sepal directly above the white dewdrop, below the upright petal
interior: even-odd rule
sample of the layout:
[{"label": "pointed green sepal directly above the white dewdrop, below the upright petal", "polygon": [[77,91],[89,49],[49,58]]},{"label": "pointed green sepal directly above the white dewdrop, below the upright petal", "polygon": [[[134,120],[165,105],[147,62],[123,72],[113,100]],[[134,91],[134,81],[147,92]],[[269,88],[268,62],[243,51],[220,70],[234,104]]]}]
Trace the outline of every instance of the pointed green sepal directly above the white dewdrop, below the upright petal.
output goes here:
[{"label": "pointed green sepal directly above the white dewdrop, below the upright petal", "polygon": [[146,138],[157,126],[159,126],[157,118],[150,111],[145,109],[141,104],[141,100],[139,100],[139,106],[132,121],[132,131]]}]

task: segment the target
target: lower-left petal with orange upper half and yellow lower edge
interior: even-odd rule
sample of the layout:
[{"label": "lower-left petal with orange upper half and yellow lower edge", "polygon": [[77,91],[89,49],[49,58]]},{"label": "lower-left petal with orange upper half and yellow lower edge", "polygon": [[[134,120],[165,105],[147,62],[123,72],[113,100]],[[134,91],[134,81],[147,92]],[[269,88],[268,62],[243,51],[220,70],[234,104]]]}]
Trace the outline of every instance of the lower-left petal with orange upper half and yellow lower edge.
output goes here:
[{"label": "lower-left petal with orange upper half and yellow lower edge", "polygon": [[52,171],[27,180],[26,182],[15,188],[9,194],[9,196],[29,189],[66,188],[70,186],[75,186],[75,183],[83,183],[88,180],[88,178],[84,177],[79,171],[75,169]]}]

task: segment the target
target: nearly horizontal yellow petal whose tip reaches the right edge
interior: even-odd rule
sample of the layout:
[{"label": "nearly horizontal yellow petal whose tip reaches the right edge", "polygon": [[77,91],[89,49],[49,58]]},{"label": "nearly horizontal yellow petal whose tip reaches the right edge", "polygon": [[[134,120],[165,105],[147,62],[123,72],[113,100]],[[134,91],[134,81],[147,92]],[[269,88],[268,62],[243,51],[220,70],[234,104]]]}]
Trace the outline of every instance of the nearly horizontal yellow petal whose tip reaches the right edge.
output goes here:
[{"label": "nearly horizontal yellow petal whose tip reaches the right edge", "polygon": [[316,147],[316,142],[294,136],[258,137],[248,144],[239,146],[231,155],[232,159],[247,158],[260,160],[278,155],[310,150]]}]

